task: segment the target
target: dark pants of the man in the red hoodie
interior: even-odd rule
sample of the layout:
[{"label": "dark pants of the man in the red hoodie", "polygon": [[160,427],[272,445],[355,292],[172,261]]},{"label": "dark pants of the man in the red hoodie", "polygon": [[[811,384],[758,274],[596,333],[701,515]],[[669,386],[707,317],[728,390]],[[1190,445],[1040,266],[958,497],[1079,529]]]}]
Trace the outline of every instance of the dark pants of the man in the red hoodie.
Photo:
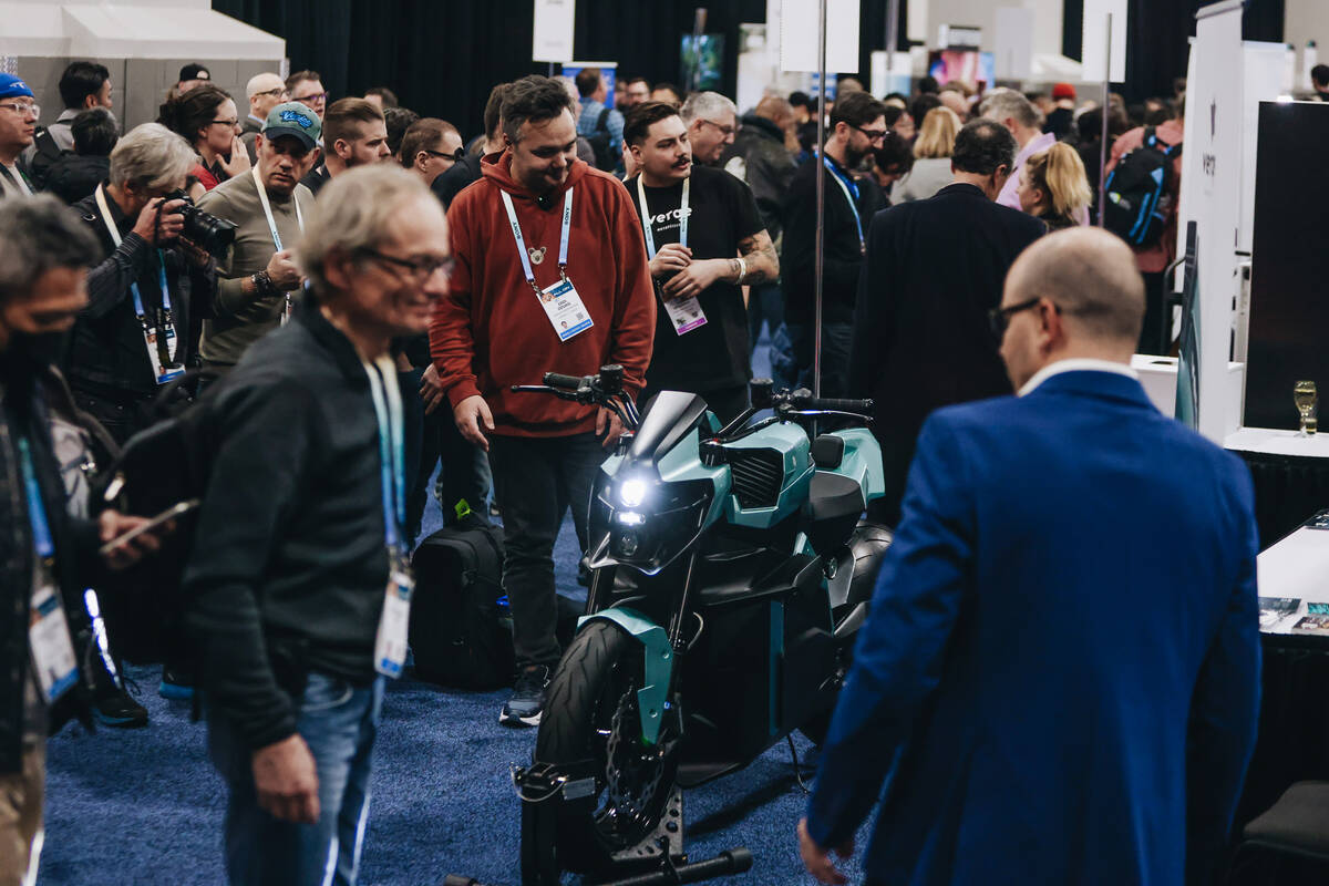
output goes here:
[{"label": "dark pants of the man in the red hoodie", "polygon": [[558,663],[554,539],[571,507],[577,543],[586,550],[591,484],[605,458],[595,434],[489,438],[518,667]]}]

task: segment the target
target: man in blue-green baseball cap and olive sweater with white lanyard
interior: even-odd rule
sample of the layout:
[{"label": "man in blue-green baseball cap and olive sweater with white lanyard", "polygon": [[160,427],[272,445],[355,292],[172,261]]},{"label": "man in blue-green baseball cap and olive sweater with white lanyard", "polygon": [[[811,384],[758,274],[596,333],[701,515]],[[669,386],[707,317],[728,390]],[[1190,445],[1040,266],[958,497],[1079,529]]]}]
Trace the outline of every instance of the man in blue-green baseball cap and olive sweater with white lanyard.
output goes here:
[{"label": "man in blue-green baseball cap and olive sweater with white lanyard", "polygon": [[198,207],[239,226],[218,266],[217,303],[203,321],[203,364],[230,368],[268,331],[286,323],[304,278],[291,260],[314,207],[299,181],[314,166],[319,116],[298,101],[268,112],[254,141],[254,169],[222,182]]}]

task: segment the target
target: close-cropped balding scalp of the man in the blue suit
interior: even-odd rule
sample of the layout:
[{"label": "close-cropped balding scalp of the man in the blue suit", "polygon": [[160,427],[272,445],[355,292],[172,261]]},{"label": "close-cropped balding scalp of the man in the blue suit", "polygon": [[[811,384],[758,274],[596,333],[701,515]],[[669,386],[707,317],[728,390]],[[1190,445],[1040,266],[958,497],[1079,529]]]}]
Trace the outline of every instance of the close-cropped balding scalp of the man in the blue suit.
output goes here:
[{"label": "close-cropped balding scalp of the man in the blue suit", "polygon": [[1144,279],[1119,236],[1073,227],[1034,240],[1010,268],[1018,300],[1047,298],[1083,337],[1136,343],[1144,323]]}]

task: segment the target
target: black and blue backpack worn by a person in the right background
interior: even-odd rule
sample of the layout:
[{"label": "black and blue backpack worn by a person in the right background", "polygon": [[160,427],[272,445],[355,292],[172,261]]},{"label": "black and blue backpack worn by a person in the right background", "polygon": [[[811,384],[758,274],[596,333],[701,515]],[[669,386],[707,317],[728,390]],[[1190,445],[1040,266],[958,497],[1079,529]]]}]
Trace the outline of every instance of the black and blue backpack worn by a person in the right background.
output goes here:
[{"label": "black and blue backpack worn by a person in the right background", "polygon": [[1180,145],[1159,141],[1152,126],[1144,143],[1130,151],[1107,177],[1103,226],[1134,247],[1156,244],[1163,238],[1168,206],[1163,198],[1172,177],[1172,161]]}]

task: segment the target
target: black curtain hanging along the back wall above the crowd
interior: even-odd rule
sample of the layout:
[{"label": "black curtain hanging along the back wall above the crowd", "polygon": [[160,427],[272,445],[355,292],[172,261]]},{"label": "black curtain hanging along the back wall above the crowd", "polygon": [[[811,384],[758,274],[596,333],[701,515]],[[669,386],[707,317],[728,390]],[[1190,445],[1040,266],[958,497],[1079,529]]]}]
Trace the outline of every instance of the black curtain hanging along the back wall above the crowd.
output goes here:
[{"label": "black curtain hanging along the back wall above the crowd", "polygon": [[[1128,101],[1170,96],[1185,74],[1187,39],[1195,33],[1200,0],[1130,0]],[[906,48],[900,3],[900,45]],[[466,135],[481,129],[489,89],[548,65],[530,61],[529,0],[213,0],[234,16],[286,40],[291,69],[314,68],[334,97],[391,86],[401,104],[443,117]],[[691,33],[694,0],[578,0],[577,57],[618,61],[622,76],[641,74],[682,85],[679,43]],[[706,7],[707,33],[723,33],[724,82],[736,92],[740,23],[766,21],[764,0],[728,0]],[[870,53],[885,46],[885,0],[861,0],[859,77],[869,82]],[[1078,58],[1083,0],[1065,0],[1062,50]],[[1284,0],[1248,0],[1247,40],[1282,40]],[[768,35],[775,40],[775,35]],[[243,98],[243,97],[242,97]]]}]

